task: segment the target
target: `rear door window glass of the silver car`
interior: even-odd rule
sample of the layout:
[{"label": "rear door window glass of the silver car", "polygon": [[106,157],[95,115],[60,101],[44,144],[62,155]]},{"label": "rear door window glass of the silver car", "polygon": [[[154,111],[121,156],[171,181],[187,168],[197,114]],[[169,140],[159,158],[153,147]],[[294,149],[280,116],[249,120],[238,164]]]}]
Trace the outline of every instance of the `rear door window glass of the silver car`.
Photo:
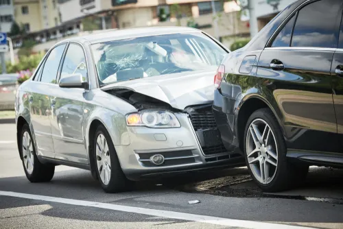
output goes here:
[{"label": "rear door window glass of the silver car", "polygon": [[50,51],[44,64],[42,77],[40,79],[41,82],[56,84],[58,67],[60,66],[65,46],[66,44],[58,45]]}]

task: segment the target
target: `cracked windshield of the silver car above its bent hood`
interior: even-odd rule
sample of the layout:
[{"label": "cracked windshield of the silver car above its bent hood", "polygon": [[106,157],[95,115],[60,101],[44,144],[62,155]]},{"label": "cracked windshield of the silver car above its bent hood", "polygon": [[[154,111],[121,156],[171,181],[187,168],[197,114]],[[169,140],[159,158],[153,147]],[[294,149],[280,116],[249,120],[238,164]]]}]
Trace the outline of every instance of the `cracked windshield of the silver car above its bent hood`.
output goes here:
[{"label": "cracked windshield of the silver car above its bent hood", "polygon": [[226,51],[201,33],[167,34],[92,45],[99,84],[217,69]]}]

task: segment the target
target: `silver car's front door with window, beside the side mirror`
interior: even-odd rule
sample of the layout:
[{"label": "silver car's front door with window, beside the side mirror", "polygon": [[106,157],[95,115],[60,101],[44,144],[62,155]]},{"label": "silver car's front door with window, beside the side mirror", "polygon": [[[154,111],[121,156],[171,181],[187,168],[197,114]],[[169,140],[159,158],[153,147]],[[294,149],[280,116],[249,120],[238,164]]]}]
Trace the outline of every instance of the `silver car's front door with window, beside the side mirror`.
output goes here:
[{"label": "silver car's front door with window, beside the side mirror", "polygon": [[[73,73],[88,77],[84,49],[77,43],[69,43],[60,68],[60,78]],[[69,162],[88,163],[84,145],[82,121],[84,114],[83,88],[59,88],[52,99],[54,116],[51,119],[51,132],[54,139],[55,158]]]}]

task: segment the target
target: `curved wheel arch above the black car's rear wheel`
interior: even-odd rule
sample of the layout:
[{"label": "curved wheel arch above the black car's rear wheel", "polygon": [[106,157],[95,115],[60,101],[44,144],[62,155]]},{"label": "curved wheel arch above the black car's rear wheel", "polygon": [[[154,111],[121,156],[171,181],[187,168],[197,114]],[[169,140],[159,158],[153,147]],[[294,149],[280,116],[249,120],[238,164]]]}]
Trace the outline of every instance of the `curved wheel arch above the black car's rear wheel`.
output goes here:
[{"label": "curved wheel arch above the black car's rear wheel", "polygon": [[281,116],[278,115],[278,113],[281,114],[278,106],[272,106],[272,104],[270,104],[268,100],[261,95],[248,95],[241,100],[239,106],[237,107],[236,133],[239,139],[239,149],[241,149],[241,152],[244,152],[244,141],[241,141],[241,139],[244,138],[246,123],[253,112],[262,108],[268,108],[272,111],[280,125],[283,136],[285,136],[285,130],[282,121],[283,119],[281,119]]}]

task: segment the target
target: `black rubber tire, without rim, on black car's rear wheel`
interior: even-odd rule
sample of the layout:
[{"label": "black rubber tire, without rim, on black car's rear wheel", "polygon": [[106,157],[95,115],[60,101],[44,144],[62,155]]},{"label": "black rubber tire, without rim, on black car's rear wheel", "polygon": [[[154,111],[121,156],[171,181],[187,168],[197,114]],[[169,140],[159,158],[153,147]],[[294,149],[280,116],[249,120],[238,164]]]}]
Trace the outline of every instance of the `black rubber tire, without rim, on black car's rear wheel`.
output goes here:
[{"label": "black rubber tire, without rim, on black car's rear wheel", "polygon": [[[270,129],[274,133],[276,139],[276,147],[278,151],[277,155],[277,169],[274,178],[269,184],[263,184],[255,178],[250,165],[248,163],[246,138],[248,134],[248,128],[252,121],[256,119],[262,119],[270,126]],[[309,167],[307,165],[292,164],[287,160],[287,147],[285,139],[283,138],[283,132],[281,131],[279,122],[269,108],[263,108],[252,113],[246,123],[246,129],[244,131],[244,157],[246,158],[246,165],[248,167],[250,176],[257,183],[257,185],[265,192],[278,192],[291,189],[292,187],[300,184],[305,180]]]}]

